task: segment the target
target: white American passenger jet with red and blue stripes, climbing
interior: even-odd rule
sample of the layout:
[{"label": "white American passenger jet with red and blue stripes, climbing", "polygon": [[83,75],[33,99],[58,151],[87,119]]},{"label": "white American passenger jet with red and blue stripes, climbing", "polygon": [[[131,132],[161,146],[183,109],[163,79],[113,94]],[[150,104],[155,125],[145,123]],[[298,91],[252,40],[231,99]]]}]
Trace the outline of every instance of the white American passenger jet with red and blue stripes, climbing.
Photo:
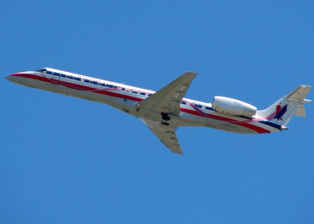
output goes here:
[{"label": "white American passenger jet with red and blue stripes, climbing", "polygon": [[139,118],[172,152],[183,154],[179,126],[205,126],[235,133],[287,130],[293,115],[305,117],[305,99],[312,86],[300,85],[264,110],[227,97],[212,102],[183,98],[197,73],[185,72],[157,92],[52,68],[15,73],[17,84],[105,103]]}]

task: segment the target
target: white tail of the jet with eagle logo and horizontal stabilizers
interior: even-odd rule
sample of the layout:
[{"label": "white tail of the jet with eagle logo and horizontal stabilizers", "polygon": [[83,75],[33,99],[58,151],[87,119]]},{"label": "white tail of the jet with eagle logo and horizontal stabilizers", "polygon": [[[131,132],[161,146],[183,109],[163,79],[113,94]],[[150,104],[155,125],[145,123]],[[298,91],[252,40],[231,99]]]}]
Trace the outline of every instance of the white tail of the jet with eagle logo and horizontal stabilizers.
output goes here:
[{"label": "white tail of the jet with eagle logo and horizontal stabilizers", "polygon": [[277,100],[268,108],[258,110],[256,115],[264,117],[268,121],[281,126],[286,126],[293,115],[305,117],[304,104],[312,101],[304,98],[311,88],[312,86],[300,85],[287,96]]}]

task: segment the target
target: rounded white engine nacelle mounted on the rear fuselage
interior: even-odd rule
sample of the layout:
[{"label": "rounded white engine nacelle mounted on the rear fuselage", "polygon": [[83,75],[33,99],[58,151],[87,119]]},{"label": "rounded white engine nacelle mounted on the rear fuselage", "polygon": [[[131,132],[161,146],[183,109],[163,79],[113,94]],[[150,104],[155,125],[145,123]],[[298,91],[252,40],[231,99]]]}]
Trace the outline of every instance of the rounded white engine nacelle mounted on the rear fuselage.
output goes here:
[{"label": "rounded white engine nacelle mounted on the rear fuselage", "polygon": [[246,117],[254,116],[257,110],[251,104],[227,97],[214,97],[211,106],[215,111],[223,114]]}]

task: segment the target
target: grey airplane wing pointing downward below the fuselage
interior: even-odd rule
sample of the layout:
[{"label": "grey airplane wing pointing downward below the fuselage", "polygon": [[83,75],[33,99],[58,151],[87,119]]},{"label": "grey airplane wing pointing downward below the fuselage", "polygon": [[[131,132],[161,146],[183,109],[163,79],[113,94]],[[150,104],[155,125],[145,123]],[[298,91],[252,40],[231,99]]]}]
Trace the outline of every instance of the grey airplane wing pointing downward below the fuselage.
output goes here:
[{"label": "grey airplane wing pointing downward below the fuselage", "polygon": [[[142,120],[142,119],[141,119]],[[159,138],[166,147],[168,147],[172,152],[183,154],[183,151],[180,148],[179,141],[176,135],[176,126],[166,126],[163,124],[158,124],[155,122],[142,120],[144,124]]]}]

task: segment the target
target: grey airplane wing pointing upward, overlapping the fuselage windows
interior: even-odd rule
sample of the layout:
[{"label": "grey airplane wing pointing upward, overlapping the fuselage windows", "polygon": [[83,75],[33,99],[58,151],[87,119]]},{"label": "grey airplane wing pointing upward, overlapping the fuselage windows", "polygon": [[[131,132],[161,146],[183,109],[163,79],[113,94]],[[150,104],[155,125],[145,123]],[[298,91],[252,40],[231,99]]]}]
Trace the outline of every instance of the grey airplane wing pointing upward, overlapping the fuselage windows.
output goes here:
[{"label": "grey airplane wing pointing upward, overlapping the fuselage windows", "polygon": [[180,103],[197,73],[186,72],[137,105],[146,110],[180,116]]}]

